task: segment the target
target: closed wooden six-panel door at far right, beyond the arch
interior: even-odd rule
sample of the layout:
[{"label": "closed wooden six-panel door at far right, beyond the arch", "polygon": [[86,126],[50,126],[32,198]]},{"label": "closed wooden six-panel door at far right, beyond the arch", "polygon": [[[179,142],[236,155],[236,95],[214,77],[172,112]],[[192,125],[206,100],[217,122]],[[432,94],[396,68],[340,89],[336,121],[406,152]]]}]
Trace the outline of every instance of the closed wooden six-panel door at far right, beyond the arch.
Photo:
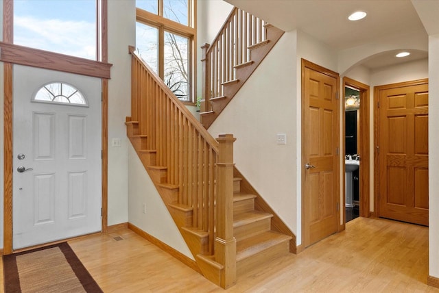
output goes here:
[{"label": "closed wooden six-panel door at far right, beyond the arch", "polygon": [[379,216],[428,225],[428,81],[376,92]]}]

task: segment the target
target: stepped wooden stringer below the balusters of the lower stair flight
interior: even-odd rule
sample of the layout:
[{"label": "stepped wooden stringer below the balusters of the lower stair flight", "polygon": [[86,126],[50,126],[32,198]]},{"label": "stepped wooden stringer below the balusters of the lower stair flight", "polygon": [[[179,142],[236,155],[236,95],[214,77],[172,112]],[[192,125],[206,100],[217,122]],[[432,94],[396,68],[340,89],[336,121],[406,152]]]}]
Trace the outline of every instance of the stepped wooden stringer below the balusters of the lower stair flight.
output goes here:
[{"label": "stepped wooden stringer below the balusters of the lower stair flight", "polygon": [[179,192],[178,186],[172,186],[165,182],[167,173],[165,166],[151,165],[153,162],[156,162],[156,151],[141,149],[145,144],[139,142],[139,140],[146,140],[147,136],[139,136],[139,123],[137,123],[137,121],[131,121],[130,117],[127,117],[126,121],[127,136],[147,171],[147,174],[152,179],[154,187],[161,196],[163,203],[165,203],[167,211],[174,220],[183,240],[185,240],[189,251],[191,251],[195,259],[195,264],[198,266],[198,271],[201,272],[206,279],[209,279],[209,281],[221,285],[220,282],[224,266],[215,262],[214,255],[209,255],[207,243],[209,236],[203,231],[191,229],[192,207],[178,205],[176,203]]}]

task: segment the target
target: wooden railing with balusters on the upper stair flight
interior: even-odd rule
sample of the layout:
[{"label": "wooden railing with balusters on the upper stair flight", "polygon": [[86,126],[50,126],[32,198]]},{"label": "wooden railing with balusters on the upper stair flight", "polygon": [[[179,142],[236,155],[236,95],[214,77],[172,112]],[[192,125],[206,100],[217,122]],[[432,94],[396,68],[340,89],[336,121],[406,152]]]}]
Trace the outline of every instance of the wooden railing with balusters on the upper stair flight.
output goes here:
[{"label": "wooden railing with balusters on the upper stair flight", "polygon": [[263,20],[239,8],[230,12],[213,42],[202,47],[202,112],[210,111],[209,100],[222,97],[222,86],[237,78],[236,66],[250,62],[250,48],[266,40]]}]

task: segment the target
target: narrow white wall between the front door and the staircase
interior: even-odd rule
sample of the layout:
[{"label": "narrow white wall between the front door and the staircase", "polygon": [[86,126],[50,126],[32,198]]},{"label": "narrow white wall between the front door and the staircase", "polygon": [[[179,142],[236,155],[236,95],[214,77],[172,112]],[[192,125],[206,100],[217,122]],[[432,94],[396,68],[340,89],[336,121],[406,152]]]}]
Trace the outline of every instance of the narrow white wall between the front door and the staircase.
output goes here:
[{"label": "narrow white wall between the front door and the staircase", "polygon": [[[131,59],[134,45],[135,1],[108,1],[108,225],[128,222],[128,138],[125,118],[130,116]],[[113,138],[122,140],[112,147]]]}]

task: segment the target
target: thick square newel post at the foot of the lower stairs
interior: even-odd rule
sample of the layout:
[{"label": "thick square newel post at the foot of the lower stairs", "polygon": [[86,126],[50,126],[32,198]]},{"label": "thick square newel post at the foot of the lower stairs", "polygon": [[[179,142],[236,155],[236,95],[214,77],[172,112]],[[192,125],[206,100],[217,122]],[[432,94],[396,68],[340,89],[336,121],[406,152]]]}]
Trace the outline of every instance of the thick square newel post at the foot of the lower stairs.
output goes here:
[{"label": "thick square newel post at the foot of the lower stairs", "polygon": [[217,238],[215,259],[224,266],[220,285],[236,283],[236,239],[233,237],[233,134],[220,134],[218,155]]}]

